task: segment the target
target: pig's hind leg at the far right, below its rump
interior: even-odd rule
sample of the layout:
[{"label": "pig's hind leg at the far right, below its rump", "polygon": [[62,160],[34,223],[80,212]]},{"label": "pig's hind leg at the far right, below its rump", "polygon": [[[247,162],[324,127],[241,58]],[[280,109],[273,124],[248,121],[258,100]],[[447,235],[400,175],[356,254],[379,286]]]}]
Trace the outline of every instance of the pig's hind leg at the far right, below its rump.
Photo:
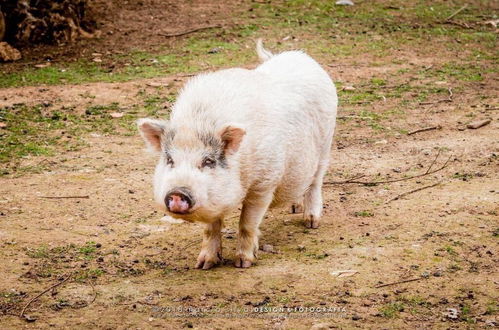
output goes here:
[{"label": "pig's hind leg at the far right, below its rump", "polygon": [[321,159],[314,179],[303,198],[303,217],[307,228],[319,228],[322,214],[322,182],[328,168],[328,159]]}]

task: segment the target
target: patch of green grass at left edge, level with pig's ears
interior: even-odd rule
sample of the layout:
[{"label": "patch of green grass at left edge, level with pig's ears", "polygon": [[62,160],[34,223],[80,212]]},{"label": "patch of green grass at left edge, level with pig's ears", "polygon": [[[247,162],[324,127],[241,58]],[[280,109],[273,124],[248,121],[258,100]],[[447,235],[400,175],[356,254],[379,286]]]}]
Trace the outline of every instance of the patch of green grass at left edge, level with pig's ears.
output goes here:
[{"label": "patch of green grass at left edge, level with pig's ears", "polygon": [[43,105],[0,108],[0,122],[6,124],[0,129],[0,176],[43,171],[44,164],[19,167],[17,161],[29,156],[51,156],[57,148],[78,150],[84,145],[84,133],[135,132],[137,114],[111,118],[110,113],[115,111],[121,111],[117,103],[91,106],[84,114],[77,114],[72,108],[53,110]]}]

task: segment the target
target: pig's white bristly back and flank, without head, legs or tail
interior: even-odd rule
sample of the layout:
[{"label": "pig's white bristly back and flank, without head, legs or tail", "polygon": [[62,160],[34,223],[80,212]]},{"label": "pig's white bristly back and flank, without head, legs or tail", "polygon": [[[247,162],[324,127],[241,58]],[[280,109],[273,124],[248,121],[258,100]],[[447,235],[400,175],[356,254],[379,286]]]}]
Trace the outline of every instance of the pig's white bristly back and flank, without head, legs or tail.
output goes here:
[{"label": "pig's white bristly back and flank, without head, legs or tail", "polygon": [[255,70],[229,69],[192,79],[171,119],[198,131],[242,126],[242,186],[275,187],[276,202],[294,201],[310,186],[320,156],[329,154],[335,95],[331,79],[314,60],[286,52]]}]

